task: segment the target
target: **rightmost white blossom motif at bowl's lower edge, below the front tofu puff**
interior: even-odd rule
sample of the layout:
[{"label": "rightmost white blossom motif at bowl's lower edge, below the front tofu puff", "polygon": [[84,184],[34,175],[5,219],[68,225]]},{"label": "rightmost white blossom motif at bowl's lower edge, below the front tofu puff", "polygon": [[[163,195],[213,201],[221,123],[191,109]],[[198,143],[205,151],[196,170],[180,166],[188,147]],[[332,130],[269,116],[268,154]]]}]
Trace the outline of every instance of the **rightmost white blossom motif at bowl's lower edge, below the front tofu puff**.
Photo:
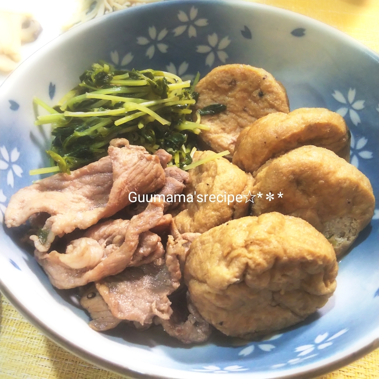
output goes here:
[{"label": "rightmost white blossom motif at bowl's lower edge, below the front tofu puff", "polygon": [[[271,366],[271,368],[280,368],[285,365],[295,365],[297,363],[303,362],[306,359],[313,358],[318,355],[318,350],[323,350],[325,348],[328,348],[329,346],[333,345],[333,340],[335,338],[340,337],[341,335],[345,334],[348,331],[348,329],[342,329],[339,332],[332,335],[332,337],[329,337],[329,333],[319,334],[316,338],[314,343],[309,345],[302,345],[298,346],[294,351],[299,353],[296,358],[290,359],[287,361],[287,363],[279,363],[276,365]],[[313,354],[310,354],[312,353]],[[309,355],[310,354],[310,355]]]}]

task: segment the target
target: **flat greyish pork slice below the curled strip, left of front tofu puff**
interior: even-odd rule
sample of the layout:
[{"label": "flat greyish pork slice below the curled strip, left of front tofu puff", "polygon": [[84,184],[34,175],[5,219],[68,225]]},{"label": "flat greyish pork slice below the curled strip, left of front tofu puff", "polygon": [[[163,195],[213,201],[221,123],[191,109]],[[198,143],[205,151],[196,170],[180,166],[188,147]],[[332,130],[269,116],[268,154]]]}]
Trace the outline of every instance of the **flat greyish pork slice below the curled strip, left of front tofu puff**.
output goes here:
[{"label": "flat greyish pork slice below the curled strip, left of front tofu puff", "polygon": [[96,282],[96,288],[114,316],[144,325],[151,324],[155,316],[170,318],[167,296],[179,287],[180,276],[180,271],[171,273],[166,263],[149,263],[108,276]]}]

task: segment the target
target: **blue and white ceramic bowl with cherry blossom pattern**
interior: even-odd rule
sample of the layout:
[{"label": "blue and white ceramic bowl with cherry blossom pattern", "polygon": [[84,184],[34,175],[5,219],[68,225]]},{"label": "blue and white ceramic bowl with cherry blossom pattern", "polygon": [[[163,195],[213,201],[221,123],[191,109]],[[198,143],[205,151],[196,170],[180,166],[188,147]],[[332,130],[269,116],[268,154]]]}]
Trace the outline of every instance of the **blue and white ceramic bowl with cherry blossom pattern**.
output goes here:
[{"label": "blue and white ceramic bowl with cherry blossom pattern", "polygon": [[[51,105],[92,62],[163,69],[193,78],[225,63],[263,67],[287,88],[291,109],[325,107],[345,117],[351,163],[378,194],[379,56],[343,33],[281,9],[245,2],[180,0],[130,8],[65,33],[35,53],[0,88],[0,208],[47,164],[48,128],[33,125],[32,97]],[[3,217],[3,215],[2,215]],[[158,329],[97,333],[70,293],[55,290],[15,232],[0,230],[3,293],[34,325],[75,354],[132,376],[314,377],[379,345],[379,211],[341,259],[337,290],[301,324],[268,340],[216,334],[183,346]],[[218,376],[217,376],[218,377]]]}]

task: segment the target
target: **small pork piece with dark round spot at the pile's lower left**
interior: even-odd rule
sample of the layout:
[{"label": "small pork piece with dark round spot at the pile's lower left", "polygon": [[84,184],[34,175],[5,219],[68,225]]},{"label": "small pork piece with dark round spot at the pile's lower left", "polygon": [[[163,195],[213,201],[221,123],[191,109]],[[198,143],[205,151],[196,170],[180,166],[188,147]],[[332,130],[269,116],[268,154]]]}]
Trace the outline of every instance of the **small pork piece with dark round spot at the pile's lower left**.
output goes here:
[{"label": "small pork piece with dark round spot at the pile's lower left", "polygon": [[89,326],[97,332],[113,329],[121,319],[112,315],[108,305],[100,296],[94,284],[92,284],[80,299],[80,305],[85,308],[92,318]]}]

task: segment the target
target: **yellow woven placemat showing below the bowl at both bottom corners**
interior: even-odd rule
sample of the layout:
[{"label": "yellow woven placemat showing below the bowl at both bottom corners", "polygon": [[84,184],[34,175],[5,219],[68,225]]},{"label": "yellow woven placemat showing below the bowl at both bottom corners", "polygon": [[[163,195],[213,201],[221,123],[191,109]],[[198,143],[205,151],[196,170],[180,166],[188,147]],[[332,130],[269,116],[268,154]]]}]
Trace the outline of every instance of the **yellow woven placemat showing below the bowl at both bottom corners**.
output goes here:
[{"label": "yellow woven placemat showing below the bowl at both bottom corners", "polygon": [[[0,294],[1,379],[124,379],[55,345]],[[318,379],[378,379],[379,349]]]}]

